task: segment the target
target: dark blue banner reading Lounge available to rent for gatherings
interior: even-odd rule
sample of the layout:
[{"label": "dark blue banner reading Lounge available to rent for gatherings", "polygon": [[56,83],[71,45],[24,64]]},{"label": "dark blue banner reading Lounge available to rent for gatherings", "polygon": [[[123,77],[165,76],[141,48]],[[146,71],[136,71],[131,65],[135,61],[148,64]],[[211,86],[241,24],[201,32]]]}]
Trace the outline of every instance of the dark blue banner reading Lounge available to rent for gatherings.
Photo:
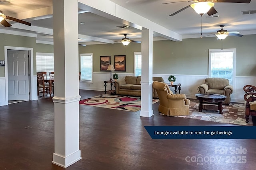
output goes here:
[{"label": "dark blue banner reading Lounge available to rent for gatherings", "polygon": [[152,139],[256,139],[256,126],[144,126]]}]

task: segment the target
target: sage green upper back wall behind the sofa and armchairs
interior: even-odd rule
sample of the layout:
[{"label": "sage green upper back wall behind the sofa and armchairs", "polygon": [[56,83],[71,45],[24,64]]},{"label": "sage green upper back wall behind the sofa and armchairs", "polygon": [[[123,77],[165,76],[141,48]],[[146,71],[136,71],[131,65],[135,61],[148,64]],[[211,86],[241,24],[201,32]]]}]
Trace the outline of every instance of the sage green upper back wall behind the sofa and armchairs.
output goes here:
[{"label": "sage green upper back wall behind the sofa and armchairs", "polygon": [[[228,36],[153,42],[154,74],[208,75],[209,49],[236,48],[236,76],[256,76],[256,35]],[[100,72],[100,56],[126,55],[126,72],[133,73],[133,52],[141,51],[141,44],[121,43],[79,46],[79,53],[93,53],[94,72]]]}]

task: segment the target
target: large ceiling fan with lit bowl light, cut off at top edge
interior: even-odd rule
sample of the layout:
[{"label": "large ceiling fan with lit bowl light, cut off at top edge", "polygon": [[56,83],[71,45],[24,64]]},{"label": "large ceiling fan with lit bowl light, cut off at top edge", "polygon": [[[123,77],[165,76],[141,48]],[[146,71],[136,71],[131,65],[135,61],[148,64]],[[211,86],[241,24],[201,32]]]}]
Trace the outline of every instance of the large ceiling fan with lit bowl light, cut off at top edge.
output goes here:
[{"label": "large ceiling fan with lit bowl light, cut off at top edge", "polygon": [[[214,2],[232,2],[232,3],[248,4],[251,2],[251,0],[183,0],[183,1],[177,1],[177,2],[195,2],[195,3],[176,11],[169,16],[174,16],[174,15],[182,12],[183,10],[186,10],[190,6],[196,11],[196,13],[200,14],[201,16],[205,13],[207,13],[208,16],[211,16],[211,15],[217,13],[215,8],[213,7]],[[172,4],[172,3],[176,3],[176,2],[167,2],[167,3],[163,3],[163,4]]]}]

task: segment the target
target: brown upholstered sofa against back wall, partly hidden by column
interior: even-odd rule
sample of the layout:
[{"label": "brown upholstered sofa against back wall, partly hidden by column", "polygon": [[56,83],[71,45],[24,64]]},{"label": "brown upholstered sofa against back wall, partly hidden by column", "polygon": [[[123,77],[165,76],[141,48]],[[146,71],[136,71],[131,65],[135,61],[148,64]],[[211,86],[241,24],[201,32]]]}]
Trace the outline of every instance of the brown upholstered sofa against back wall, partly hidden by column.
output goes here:
[{"label": "brown upholstered sofa against back wall, partly hidden by column", "polygon": [[[141,96],[141,76],[125,76],[124,80],[115,82],[115,91],[118,95]],[[153,77],[153,81],[164,82],[162,77]],[[153,98],[158,98],[153,88]]]}]

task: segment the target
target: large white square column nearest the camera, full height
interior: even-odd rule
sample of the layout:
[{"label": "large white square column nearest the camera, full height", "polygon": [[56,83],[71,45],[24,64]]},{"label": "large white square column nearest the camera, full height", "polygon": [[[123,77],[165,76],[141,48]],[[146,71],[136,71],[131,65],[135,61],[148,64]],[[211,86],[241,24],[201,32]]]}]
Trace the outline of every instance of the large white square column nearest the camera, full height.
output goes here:
[{"label": "large white square column nearest the camera, full height", "polygon": [[79,149],[78,2],[53,0],[54,154],[53,164],[68,167]]}]

